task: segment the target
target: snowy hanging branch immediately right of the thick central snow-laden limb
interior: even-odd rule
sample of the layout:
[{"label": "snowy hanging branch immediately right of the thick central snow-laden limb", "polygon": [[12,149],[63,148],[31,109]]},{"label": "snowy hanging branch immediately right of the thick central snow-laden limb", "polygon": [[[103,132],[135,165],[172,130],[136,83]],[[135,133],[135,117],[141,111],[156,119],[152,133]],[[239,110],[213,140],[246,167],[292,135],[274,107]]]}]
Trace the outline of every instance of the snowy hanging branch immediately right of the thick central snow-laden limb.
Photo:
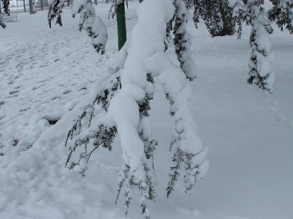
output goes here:
[{"label": "snowy hanging branch immediately right of the thick central snow-laden limb", "polygon": [[197,66],[194,60],[191,59],[190,45],[192,43],[192,36],[186,30],[190,1],[173,0],[173,4],[175,6],[173,27],[175,53],[186,79],[193,81],[197,76]]}]

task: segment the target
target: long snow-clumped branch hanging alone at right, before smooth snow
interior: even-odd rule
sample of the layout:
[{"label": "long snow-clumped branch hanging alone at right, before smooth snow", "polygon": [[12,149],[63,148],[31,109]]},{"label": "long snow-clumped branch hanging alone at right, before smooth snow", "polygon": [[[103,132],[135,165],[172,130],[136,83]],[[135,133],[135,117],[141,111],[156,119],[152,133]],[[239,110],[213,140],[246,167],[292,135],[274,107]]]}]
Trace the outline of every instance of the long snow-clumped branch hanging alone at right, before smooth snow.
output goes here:
[{"label": "long snow-clumped branch hanging alone at right, before smooth snow", "polygon": [[[259,5],[259,0],[243,1],[247,7],[251,34],[249,44],[251,46],[251,57],[248,63],[249,78],[248,84],[255,84],[261,90],[272,92],[272,84],[275,81],[275,73],[271,63],[274,60],[275,52],[268,34],[273,32],[270,22],[263,16],[263,8]],[[267,34],[268,33],[268,34]]]}]

